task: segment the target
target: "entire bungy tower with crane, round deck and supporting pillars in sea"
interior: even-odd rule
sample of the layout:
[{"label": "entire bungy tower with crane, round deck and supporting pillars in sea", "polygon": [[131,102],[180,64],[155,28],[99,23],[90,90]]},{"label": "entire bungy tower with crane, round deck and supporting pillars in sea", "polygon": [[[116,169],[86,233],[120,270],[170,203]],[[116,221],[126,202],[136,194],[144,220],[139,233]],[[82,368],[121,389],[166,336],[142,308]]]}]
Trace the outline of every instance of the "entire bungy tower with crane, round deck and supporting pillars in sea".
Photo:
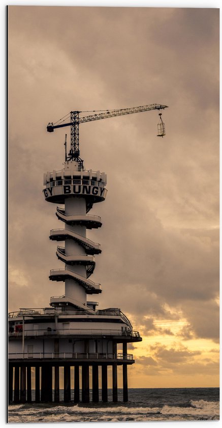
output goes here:
[{"label": "entire bungy tower with crane, round deck and supporting pillars in sea", "polygon": [[44,174],[43,189],[45,200],[56,205],[60,227],[51,230],[49,238],[59,243],[56,256],[64,263],[62,269],[50,271],[49,279],[64,283],[64,290],[50,298],[49,307],[21,308],[9,314],[10,403],[107,402],[109,366],[113,402],[118,401],[117,366],[122,367],[122,399],[128,401],[127,368],[135,361],[127,344],[142,338],[119,308],[98,309],[92,296],[102,292],[91,279],[102,250],[87,237],[87,230],[102,226],[101,218],[91,215],[90,209],[105,200],[107,178],[104,172],[84,169],[79,124],[166,107],[151,104],[82,118],[80,112],[71,112],[69,123],[48,124],[49,132],[71,126],[71,148],[63,168]]}]

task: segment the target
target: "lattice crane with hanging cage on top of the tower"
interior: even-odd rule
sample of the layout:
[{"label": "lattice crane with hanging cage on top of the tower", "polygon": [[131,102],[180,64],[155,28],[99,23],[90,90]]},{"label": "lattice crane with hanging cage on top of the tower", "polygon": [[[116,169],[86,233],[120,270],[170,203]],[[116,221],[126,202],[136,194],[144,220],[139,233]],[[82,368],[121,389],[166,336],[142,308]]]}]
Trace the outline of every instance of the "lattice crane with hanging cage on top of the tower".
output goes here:
[{"label": "lattice crane with hanging cage on top of the tower", "polygon": [[[129,109],[119,109],[119,110],[111,110],[111,111],[106,110],[106,111],[103,111],[103,113],[99,113],[99,114],[96,113],[95,110],[93,110],[92,111],[94,113],[93,115],[83,116],[83,117],[79,117],[79,114],[84,113],[84,112],[75,111],[75,112],[70,112],[70,122],[59,123],[57,125],[56,124],[53,125],[53,123],[48,123],[47,131],[53,132],[54,129],[62,128],[64,126],[71,126],[71,141],[70,141],[71,142],[71,148],[70,148],[68,156],[66,154],[66,161],[68,161],[68,162],[69,161],[76,161],[81,165],[81,168],[83,169],[83,161],[79,157],[79,155],[80,155],[80,150],[79,150],[79,124],[80,123],[90,122],[93,120],[106,119],[106,118],[114,117],[114,116],[129,115],[132,113],[147,112],[149,110],[159,110],[160,111],[162,109],[163,110],[166,109],[167,107],[168,107],[168,105],[148,104],[148,105],[142,105],[139,107],[132,107]],[[160,119],[161,119],[161,114],[160,114]],[[61,121],[61,119],[60,119],[60,121]],[[161,121],[162,121],[162,119],[161,119]],[[164,125],[163,121],[162,121],[162,124],[163,124],[163,126],[158,125],[158,137],[163,137],[165,135],[165,125]],[[65,145],[66,145],[66,143],[65,143]]]}]

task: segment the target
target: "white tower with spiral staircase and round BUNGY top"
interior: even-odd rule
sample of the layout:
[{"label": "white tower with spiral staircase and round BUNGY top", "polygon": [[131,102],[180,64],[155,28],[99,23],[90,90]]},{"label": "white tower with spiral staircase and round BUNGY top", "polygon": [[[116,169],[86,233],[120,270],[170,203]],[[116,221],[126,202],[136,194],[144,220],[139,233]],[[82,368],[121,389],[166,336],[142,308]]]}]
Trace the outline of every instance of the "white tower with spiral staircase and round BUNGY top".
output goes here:
[{"label": "white tower with spiral staircase and round BUNGY top", "polygon": [[78,162],[65,162],[64,169],[44,176],[46,201],[64,204],[57,207],[56,216],[64,228],[50,231],[50,239],[65,241],[57,247],[56,255],[65,263],[65,269],[50,271],[52,281],[65,281],[65,295],[51,297],[50,305],[64,309],[94,309],[96,303],[88,302],[87,295],[101,293],[100,284],[89,279],[95,267],[95,254],[100,254],[100,244],[87,238],[87,229],[102,226],[101,218],[87,214],[93,203],[104,201],[107,190],[106,174],[100,171],[83,171]]}]

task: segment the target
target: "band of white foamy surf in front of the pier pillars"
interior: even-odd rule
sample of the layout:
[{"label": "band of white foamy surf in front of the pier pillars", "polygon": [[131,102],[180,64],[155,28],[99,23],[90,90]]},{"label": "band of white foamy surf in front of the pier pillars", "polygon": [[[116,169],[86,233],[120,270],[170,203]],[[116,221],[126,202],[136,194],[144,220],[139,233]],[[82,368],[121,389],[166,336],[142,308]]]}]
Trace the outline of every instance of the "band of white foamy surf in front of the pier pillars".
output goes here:
[{"label": "band of white foamy surf in front of the pier pillars", "polygon": [[[145,421],[218,419],[219,402],[191,400],[188,407],[131,407],[126,406],[78,406],[78,405],[11,405],[9,422],[71,422],[71,421]],[[109,407],[108,407],[109,406]]]}]

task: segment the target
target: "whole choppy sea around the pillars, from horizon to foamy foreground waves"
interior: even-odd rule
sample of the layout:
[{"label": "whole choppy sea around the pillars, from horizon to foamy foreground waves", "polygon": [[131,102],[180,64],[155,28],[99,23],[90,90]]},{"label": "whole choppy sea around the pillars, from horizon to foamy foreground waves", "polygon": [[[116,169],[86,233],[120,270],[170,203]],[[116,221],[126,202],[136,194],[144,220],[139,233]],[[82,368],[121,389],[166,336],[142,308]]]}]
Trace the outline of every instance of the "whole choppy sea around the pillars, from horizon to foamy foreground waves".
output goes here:
[{"label": "whole choppy sea around the pillars, from horizon to foamy foreground waves", "polygon": [[[33,399],[35,391],[33,392]],[[90,395],[92,391],[90,391]],[[100,391],[100,399],[101,398]],[[60,390],[60,400],[63,390]],[[219,388],[134,388],[128,390],[128,403],[74,404],[10,404],[9,423],[52,422],[146,422],[146,421],[209,421],[219,420]]]}]

